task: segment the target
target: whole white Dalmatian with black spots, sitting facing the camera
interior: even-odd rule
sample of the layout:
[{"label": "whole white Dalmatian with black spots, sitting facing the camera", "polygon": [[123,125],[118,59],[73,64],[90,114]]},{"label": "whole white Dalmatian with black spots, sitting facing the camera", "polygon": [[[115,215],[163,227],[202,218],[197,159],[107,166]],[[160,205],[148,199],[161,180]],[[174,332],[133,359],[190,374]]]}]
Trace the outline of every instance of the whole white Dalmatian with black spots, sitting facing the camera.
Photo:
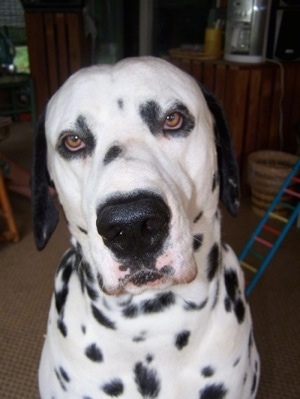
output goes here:
[{"label": "whole white Dalmatian with black spots, sitting facing the camera", "polygon": [[35,138],[37,248],[71,233],[55,276],[42,399],[250,399],[260,363],[244,277],[221,239],[239,179],[215,99],[165,60],[68,78]]}]

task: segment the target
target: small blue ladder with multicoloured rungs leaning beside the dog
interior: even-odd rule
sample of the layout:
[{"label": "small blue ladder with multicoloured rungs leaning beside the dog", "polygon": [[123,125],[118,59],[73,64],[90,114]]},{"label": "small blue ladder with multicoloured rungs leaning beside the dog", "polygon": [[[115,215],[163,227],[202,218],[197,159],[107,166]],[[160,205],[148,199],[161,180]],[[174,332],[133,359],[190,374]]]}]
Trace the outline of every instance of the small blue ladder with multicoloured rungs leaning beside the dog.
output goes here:
[{"label": "small blue ladder with multicoloured rungs leaning beside the dog", "polygon": [[[246,295],[249,295],[251,293],[254,286],[257,284],[258,280],[261,278],[262,274],[266,270],[269,262],[271,261],[272,257],[274,256],[275,252],[277,251],[280,244],[282,243],[287,232],[291,228],[293,222],[296,220],[297,216],[300,215],[300,201],[298,201],[295,206],[292,206],[292,205],[286,203],[285,201],[281,201],[283,194],[289,194],[289,195],[293,196],[294,198],[300,199],[300,192],[295,191],[294,187],[293,187],[293,189],[289,188],[289,185],[291,182],[300,183],[300,177],[297,176],[299,171],[300,171],[300,159],[298,159],[298,161],[296,162],[296,164],[290,171],[289,175],[283,182],[280,190],[278,191],[277,195],[275,196],[272,203],[268,207],[264,216],[261,218],[259,224],[257,225],[256,229],[254,230],[253,234],[251,235],[250,239],[248,240],[244,249],[242,250],[241,254],[238,257],[241,266],[246,267],[255,273],[253,278],[251,279],[250,283],[246,287]],[[286,209],[289,209],[290,211],[292,211],[289,218],[279,215],[276,212],[275,208],[278,204],[283,205]],[[266,222],[268,221],[268,219],[270,219],[270,220],[275,219],[277,221],[282,222],[282,225],[281,225],[282,230],[280,231],[277,228],[273,228],[272,226],[267,225]],[[274,243],[271,243],[270,241],[259,237],[259,234],[262,229],[267,230],[268,232],[273,233],[275,236],[277,236]],[[255,250],[251,249],[251,247],[256,242],[259,242],[260,244],[269,248],[269,252],[266,254],[265,257],[262,257],[260,254],[256,253]],[[255,255],[256,257],[258,257],[262,260],[262,264],[257,268],[257,271],[255,271],[256,269],[254,269],[251,265],[244,262],[244,259],[249,252],[252,255]],[[257,255],[259,255],[259,256],[257,256]]]}]

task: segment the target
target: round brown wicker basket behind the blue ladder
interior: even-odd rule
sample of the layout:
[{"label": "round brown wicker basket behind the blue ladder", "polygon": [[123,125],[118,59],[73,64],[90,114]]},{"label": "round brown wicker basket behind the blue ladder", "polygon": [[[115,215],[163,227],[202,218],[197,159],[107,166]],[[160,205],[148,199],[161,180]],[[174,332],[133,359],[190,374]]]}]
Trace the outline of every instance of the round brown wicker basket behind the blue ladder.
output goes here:
[{"label": "round brown wicker basket behind the blue ladder", "polygon": [[[252,209],[262,216],[278,193],[287,175],[297,162],[296,155],[280,151],[257,151],[248,158],[248,183],[252,193]],[[282,198],[291,203],[290,196]],[[276,212],[286,215],[286,208],[278,206]]]}]

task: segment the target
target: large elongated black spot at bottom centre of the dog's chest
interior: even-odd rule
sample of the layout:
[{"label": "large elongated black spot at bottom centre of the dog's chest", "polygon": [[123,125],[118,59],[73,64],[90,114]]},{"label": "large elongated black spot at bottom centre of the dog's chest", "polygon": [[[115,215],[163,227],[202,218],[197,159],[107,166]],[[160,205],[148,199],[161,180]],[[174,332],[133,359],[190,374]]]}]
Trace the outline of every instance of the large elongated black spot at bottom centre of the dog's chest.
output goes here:
[{"label": "large elongated black spot at bottom centre of the dog's chest", "polygon": [[160,381],[154,369],[144,366],[141,362],[134,367],[135,382],[143,397],[156,398],[160,391]]}]

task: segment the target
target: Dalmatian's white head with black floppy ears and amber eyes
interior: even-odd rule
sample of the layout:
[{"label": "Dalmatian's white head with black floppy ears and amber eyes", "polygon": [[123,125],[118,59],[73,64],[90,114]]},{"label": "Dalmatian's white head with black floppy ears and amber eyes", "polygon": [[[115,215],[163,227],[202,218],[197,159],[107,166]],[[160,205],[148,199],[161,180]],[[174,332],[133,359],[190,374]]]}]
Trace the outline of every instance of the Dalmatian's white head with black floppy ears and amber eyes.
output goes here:
[{"label": "Dalmatian's white head with black floppy ears and amber eyes", "polygon": [[[195,279],[195,237],[216,239],[219,195],[238,208],[238,172],[224,115],[186,73],[152,57],[92,66],[50,100],[37,129],[36,244],[58,219],[109,294]],[[203,241],[203,242],[202,242]]]}]

